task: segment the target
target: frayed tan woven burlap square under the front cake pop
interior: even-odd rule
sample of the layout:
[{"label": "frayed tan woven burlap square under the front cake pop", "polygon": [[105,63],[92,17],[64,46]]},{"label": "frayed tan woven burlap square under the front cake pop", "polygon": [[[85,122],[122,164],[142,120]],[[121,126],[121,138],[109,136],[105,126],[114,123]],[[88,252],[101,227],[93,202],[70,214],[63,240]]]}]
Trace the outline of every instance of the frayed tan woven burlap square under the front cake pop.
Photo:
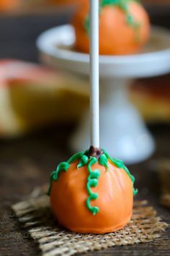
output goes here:
[{"label": "frayed tan woven burlap square under the front cake pop", "polygon": [[[37,194],[35,191],[32,197]],[[32,239],[39,244],[43,256],[69,256],[117,245],[151,242],[167,226],[146,201],[134,203],[133,218],[124,229],[104,235],[75,234],[58,226],[50,213],[46,195],[19,202],[12,208]]]}]

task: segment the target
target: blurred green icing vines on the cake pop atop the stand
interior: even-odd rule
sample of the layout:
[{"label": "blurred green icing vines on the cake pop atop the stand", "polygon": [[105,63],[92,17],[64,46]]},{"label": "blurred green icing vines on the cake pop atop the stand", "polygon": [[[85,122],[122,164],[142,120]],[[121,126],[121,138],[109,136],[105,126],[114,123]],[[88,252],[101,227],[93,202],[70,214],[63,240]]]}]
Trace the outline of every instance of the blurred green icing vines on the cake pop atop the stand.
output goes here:
[{"label": "blurred green icing vines on the cake pop atop the stand", "polygon": [[[140,28],[140,23],[135,22],[133,15],[130,14],[128,10],[128,3],[130,1],[137,1],[140,2],[140,0],[100,0],[99,1],[99,14],[102,12],[102,8],[106,6],[115,6],[119,7],[122,9],[122,11],[126,15],[126,22],[130,27],[133,27],[133,29],[136,31],[135,39],[139,40],[139,28]],[[89,35],[89,27],[90,27],[90,20],[89,20],[89,15],[86,17],[86,20],[84,22],[84,27],[86,28],[86,32]]]}]

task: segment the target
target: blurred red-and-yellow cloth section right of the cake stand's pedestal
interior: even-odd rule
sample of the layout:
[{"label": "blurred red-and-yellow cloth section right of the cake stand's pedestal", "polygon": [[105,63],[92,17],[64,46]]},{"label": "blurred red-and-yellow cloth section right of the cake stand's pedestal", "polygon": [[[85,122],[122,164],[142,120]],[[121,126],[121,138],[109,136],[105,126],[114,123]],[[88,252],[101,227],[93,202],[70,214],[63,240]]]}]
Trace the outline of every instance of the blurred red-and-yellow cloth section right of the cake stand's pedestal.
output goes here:
[{"label": "blurred red-and-yellow cloth section right of the cake stand's pedestal", "polygon": [[170,77],[135,82],[130,99],[148,122],[170,121]]}]

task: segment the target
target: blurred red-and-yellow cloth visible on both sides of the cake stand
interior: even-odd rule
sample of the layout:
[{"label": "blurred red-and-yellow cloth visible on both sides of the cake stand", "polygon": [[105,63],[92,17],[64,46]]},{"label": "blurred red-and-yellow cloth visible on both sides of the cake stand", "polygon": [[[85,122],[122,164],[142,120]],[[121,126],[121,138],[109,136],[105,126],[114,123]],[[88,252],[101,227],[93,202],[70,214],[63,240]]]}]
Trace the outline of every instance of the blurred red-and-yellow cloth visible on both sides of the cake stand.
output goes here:
[{"label": "blurred red-and-yellow cloth visible on both sides of the cake stand", "polygon": [[[170,121],[170,77],[140,80],[130,99],[146,121]],[[82,78],[17,60],[0,61],[0,136],[78,120],[89,106]]]}]

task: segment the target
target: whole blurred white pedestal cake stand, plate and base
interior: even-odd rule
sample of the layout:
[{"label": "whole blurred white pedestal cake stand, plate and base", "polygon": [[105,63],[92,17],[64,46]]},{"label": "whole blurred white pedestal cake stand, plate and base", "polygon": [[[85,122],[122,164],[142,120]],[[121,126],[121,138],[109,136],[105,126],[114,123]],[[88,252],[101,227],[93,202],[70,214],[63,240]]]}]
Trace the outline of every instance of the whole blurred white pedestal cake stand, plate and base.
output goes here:
[{"label": "whole blurred white pedestal cake stand, plate and base", "polygon": [[[37,39],[40,59],[45,64],[89,79],[89,55],[73,51],[71,25],[54,27]],[[103,148],[126,163],[148,158],[155,148],[138,111],[128,101],[128,85],[138,77],[170,72],[170,32],[153,27],[143,52],[131,56],[100,56],[100,140]],[[154,85],[153,85],[154,86]],[[89,147],[89,111],[71,140],[73,150]]]}]

